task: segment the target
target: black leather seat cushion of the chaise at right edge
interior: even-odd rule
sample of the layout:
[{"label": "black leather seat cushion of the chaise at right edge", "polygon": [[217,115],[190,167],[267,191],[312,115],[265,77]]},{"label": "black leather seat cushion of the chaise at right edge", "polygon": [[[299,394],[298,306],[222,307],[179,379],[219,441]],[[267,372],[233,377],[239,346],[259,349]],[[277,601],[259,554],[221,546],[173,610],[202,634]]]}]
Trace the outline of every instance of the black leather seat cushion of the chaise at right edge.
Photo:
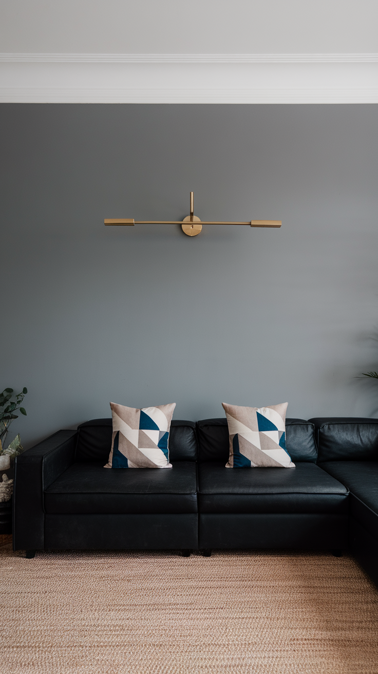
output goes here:
[{"label": "black leather seat cushion of the chaise at right edge", "polygon": [[350,491],[350,515],[378,539],[378,461],[326,461],[323,470]]}]

